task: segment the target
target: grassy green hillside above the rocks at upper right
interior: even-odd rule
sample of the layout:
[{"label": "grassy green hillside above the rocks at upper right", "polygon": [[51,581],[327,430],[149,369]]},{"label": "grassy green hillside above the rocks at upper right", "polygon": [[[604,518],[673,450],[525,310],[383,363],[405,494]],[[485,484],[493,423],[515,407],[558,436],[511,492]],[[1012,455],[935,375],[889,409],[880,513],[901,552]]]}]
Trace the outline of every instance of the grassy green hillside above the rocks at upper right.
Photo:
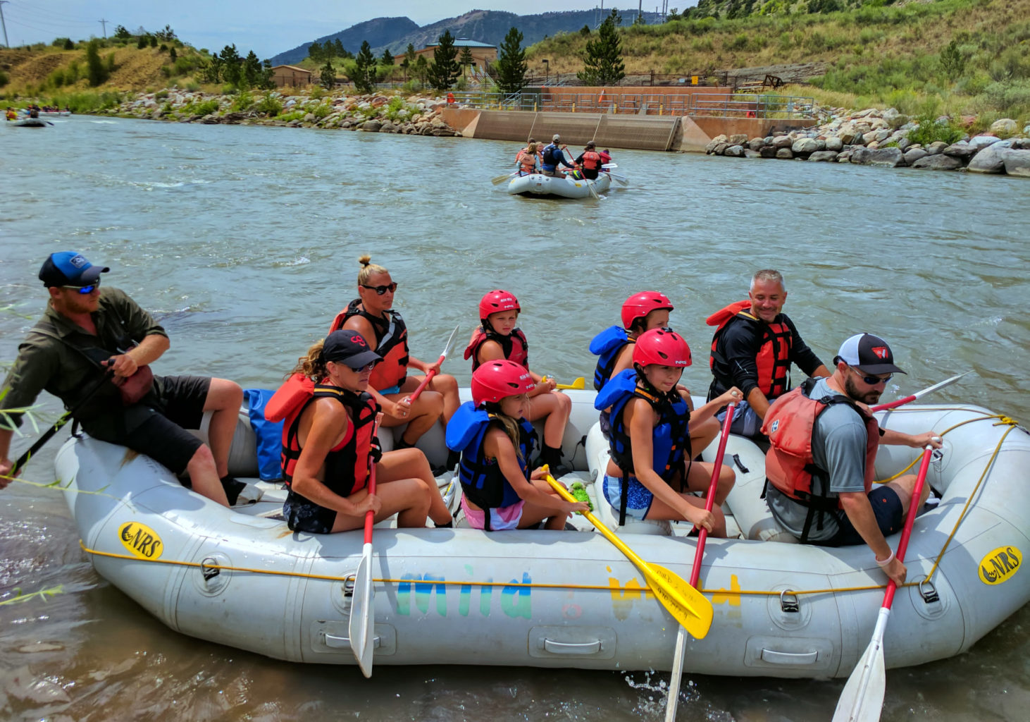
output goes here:
[{"label": "grassy green hillside above the rocks at upper right", "polygon": [[[700,11],[720,17],[621,28],[626,72],[825,62],[830,69],[813,79],[815,91],[793,90],[835,105],[891,105],[907,114],[1030,120],[1030,0],[892,6],[872,0],[816,13],[802,2],[749,6],[752,14],[744,18],[722,17],[734,14],[732,2],[710,3]],[[529,65],[546,58],[552,72],[576,72],[588,39],[570,33],[544,40],[529,48]]]}]

